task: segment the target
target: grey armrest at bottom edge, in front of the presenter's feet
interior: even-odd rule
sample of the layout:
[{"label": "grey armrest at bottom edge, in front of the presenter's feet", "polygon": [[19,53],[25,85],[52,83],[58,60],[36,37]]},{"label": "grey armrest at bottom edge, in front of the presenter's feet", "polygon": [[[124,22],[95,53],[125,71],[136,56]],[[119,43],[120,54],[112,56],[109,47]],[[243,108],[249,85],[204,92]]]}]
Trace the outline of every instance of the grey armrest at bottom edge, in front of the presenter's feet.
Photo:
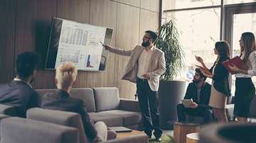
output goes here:
[{"label": "grey armrest at bottom edge, in front of the presenter's feet", "polygon": [[129,137],[123,137],[120,139],[110,139],[107,142],[102,143],[148,143],[149,137],[147,135],[141,134],[141,135],[132,135]]}]

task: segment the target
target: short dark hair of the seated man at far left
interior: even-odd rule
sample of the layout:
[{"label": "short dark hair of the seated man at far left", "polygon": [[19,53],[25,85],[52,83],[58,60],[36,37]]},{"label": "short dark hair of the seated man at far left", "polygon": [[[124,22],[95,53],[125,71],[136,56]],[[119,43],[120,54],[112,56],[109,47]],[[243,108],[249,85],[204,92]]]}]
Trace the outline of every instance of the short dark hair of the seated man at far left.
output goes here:
[{"label": "short dark hair of the seated man at far left", "polygon": [[16,59],[16,74],[19,78],[27,78],[33,74],[39,63],[39,55],[34,52],[23,52]]}]

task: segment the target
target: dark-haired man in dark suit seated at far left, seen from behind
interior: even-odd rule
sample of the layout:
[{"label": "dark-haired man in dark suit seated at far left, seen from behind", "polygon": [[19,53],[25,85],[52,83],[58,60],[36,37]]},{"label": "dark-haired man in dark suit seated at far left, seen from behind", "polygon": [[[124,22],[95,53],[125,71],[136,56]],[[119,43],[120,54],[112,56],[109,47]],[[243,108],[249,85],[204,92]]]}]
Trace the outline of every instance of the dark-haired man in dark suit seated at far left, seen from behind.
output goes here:
[{"label": "dark-haired man in dark suit seated at far left, seen from behind", "polygon": [[0,84],[0,103],[12,105],[18,116],[26,118],[26,110],[41,107],[41,98],[30,85],[36,76],[39,57],[33,52],[23,52],[16,59],[16,78],[6,84]]}]

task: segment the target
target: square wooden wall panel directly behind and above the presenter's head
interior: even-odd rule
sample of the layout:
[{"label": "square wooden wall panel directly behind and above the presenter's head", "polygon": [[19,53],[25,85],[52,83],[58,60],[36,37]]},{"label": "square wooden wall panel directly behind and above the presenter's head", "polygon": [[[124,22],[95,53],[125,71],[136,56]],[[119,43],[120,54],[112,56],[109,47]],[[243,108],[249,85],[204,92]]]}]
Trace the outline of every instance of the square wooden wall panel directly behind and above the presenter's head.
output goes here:
[{"label": "square wooden wall panel directly behind and above the presenter's head", "polygon": [[146,30],[156,32],[159,28],[159,13],[141,9],[139,24],[139,43],[142,43],[142,36]]}]

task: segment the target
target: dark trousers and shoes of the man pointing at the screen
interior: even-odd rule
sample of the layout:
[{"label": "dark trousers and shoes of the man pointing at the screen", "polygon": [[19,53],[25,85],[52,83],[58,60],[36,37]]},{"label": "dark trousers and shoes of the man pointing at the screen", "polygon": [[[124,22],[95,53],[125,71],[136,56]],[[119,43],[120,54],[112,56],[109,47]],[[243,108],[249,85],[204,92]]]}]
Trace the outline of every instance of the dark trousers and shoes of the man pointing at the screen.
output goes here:
[{"label": "dark trousers and shoes of the man pointing at the screen", "polygon": [[159,97],[157,91],[152,91],[147,80],[137,79],[137,94],[139,108],[144,118],[144,132],[151,137],[161,137],[162,130],[159,127]]}]

